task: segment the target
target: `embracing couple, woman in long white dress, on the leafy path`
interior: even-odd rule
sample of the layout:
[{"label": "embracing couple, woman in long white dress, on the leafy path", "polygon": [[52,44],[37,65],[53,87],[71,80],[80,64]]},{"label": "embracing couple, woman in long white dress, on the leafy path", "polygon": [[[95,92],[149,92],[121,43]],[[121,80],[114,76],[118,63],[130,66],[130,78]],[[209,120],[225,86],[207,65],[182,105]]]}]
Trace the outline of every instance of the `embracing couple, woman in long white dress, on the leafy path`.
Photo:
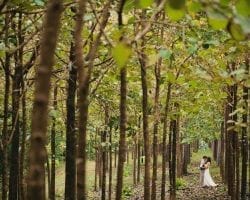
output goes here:
[{"label": "embracing couple, woman in long white dress, on the leafy path", "polygon": [[207,156],[203,156],[201,162],[200,162],[200,185],[202,187],[216,187],[218,186],[213,181],[210,172],[209,167],[211,165],[211,158]]}]

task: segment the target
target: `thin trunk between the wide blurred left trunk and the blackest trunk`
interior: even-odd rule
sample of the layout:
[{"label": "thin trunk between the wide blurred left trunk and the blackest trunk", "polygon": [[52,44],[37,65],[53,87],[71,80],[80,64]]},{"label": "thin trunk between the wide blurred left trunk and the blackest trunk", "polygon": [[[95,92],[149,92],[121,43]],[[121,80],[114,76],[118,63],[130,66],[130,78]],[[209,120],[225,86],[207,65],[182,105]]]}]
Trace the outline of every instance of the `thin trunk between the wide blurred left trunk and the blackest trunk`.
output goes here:
[{"label": "thin trunk between the wide blurred left trunk and the blackest trunk", "polygon": [[[57,86],[54,88],[53,109],[57,111]],[[51,185],[50,200],[55,200],[56,195],[56,117],[52,119],[51,128]]]}]

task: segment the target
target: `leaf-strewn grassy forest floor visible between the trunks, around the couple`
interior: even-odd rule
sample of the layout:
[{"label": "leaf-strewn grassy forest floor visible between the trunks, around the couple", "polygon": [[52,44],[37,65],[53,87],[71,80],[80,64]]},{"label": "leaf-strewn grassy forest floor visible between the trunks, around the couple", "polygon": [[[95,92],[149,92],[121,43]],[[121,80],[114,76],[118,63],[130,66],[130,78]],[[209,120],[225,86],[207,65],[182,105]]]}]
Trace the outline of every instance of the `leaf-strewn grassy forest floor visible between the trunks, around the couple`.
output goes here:
[{"label": "leaf-strewn grassy forest floor visible between the trunks, around the couple", "polygon": [[[216,188],[202,188],[199,186],[199,162],[203,155],[211,156],[210,151],[199,151],[198,153],[193,153],[191,164],[188,167],[188,175],[183,176],[180,179],[177,179],[178,190],[177,190],[177,199],[182,200],[223,200],[229,199],[227,197],[226,187],[222,184],[219,168],[212,161],[212,165],[210,168],[211,176],[214,181],[219,184]],[[158,159],[159,161],[161,158]],[[133,166],[132,160],[125,164],[124,169],[124,200],[142,200],[143,199],[143,180],[141,179],[141,183],[136,187],[133,186]],[[94,169],[95,163],[93,161],[89,161],[87,164],[87,185],[88,185],[88,199],[90,200],[99,200],[100,199],[100,191],[94,192]],[[116,183],[116,169],[113,169],[113,191],[115,190]],[[158,182],[157,182],[157,200],[160,199],[160,183],[161,183],[161,163],[159,163],[158,170]],[[143,175],[143,171],[141,172]],[[63,199],[64,195],[64,165],[61,165],[57,168],[57,176],[56,176],[56,193],[57,199]],[[108,179],[108,176],[107,176]],[[169,186],[166,185],[168,190]],[[107,188],[108,188],[108,180],[107,180]],[[112,194],[114,196],[114,193]],[[167,195],[166,195],[167,196]],[[168,199],[168,196],[166,197]]]}]

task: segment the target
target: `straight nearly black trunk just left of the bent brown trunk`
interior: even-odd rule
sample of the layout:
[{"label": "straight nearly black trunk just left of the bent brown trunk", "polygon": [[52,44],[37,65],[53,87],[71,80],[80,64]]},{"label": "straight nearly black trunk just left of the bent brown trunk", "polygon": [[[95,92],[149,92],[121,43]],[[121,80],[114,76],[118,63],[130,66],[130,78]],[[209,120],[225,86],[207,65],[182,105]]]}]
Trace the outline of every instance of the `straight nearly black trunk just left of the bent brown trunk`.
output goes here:
[{"label": "straight nearly black trunk just left of the bent brown trunk", "polygon": [[66,163],[65,163],[65,200],[76,198],[76,130],[75,130],[75,99],[77,69],[75,66],[74,46],[70,48],[70,68],[67,93],[66,122]]}]

